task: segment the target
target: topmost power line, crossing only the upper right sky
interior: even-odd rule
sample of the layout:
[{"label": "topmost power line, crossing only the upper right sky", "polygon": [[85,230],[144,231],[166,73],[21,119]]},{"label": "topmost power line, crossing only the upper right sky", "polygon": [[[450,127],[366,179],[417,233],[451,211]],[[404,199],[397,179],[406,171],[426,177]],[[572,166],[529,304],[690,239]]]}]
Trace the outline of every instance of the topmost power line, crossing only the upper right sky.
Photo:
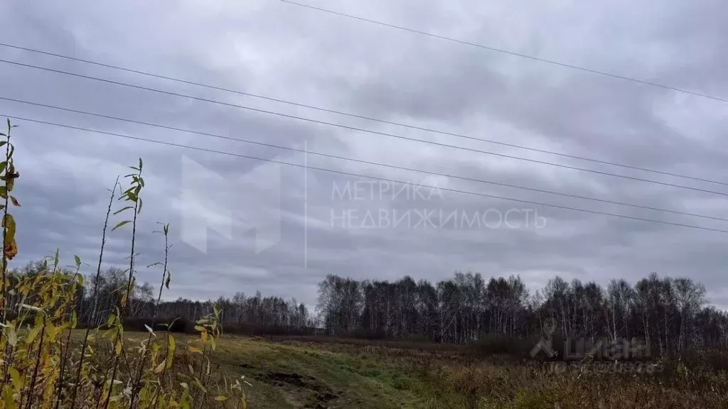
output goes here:
[{"label": "topmost power line, crossing only the upper right sky", "polygon": [[711,100],[716,100],[716,101],[721,101],[721,102],[724,102],[724,103],[728,103],[728,99],[725,99],[725,98],[720,98],[720,97],[716,97],[716,96],[713,96],[713,95],[703,94],[701,92],[684,90],[683,88],[672,87],[670,85],[658,84],[657,82],[649,82],[649,81],[646,81],[644,79],[636,79],[636,78],[633,78],[633,77],[630,77],[630,76],[622,76],[622,75],[619,75],[619,74],[612,74],[612,73],[608,73],[606,71],[599,71],[599,70],[596,70],[594,68],[581,67],[579,65],[572,65],[572,64],[567,64],[567,63],[560,63],[560,62],[555,61],[555,60],[547,60],[545,58],[536,57],[534,55],[521,54],[520,52],[509,51],[507,49],[500,49],[500,48],[496,48],[496,47],[489,47],[489,46],[486,46],[486,45],[483,45],[483,44],[473,43],[473,42],[470,42],[470,41],[453,39],[451,37],[440,36],[440,35],[434,34],[434,33],[427,33],[427,31],[419,31],[419,30],[416,30],[414,28],[403,27],[402,25],[394,25],[394,24],[384,23],[384,22],[378,21],[378,20],[371,20],[371,19],[364,18],[364,17],[359,17],[359,16],[355,16],[355,15],[349,15],[349,14],[346,14],[346,13],[343,13],[343,12],[336,12],[334,10],[323,9],[321,7],[315,7],[315,6],[311,6],[309,4],[298,3],[296,1],[290,1],[290,0],[280,0],[280,1],[282,1],[283,3],[288,3],[288,4],[296,5],[298,7],[305,7],[306,9],[313,9],[313,10],[317,10],[319,12],[325,12],[325,13],[328,13],[328,14],[331,14],[331,15],[338,15],[338,16],[341,16],[341,17],[348,17],[348,18],[352,18],[354,20],[364,21],[366,23],[372,23],[372,24],[376,24],[376,25],[383,25],[384,27],[396,28],[397,30],[408,31],[410,33],[422,34],[423,36],[429,36],[429,37],[432,37],[432,38],[435,38],[435,39],[452,41],[452,42],[459,43],[459,44],[469,45],[469,46],[472,46],[472,47],[478,47],[480,49],[487,49],[488,51],[500,52],[502,54],[513,55],[515,57],[527,58],[529,60],[539,61],[541,63],[548,63],[548,64],[553,64],[553,65],[558,65],[558,66],[565,67],[565,68],[571,68],[573,70],[585,71],[585,72],[588,72],[588,73],[591,73],[591,74],[598,74],[598,75],[603,75],[603,76],[609,76],[609,77],[614,78],[614,79],[622,79],[624,81],[636,82],[638,84],[644,84],[644,85],[649,85],[651,87],[662,88],[663,90],[683,92],[684,94],[695,95],[696,97],[708,98],[708,99],[711,99]]}]

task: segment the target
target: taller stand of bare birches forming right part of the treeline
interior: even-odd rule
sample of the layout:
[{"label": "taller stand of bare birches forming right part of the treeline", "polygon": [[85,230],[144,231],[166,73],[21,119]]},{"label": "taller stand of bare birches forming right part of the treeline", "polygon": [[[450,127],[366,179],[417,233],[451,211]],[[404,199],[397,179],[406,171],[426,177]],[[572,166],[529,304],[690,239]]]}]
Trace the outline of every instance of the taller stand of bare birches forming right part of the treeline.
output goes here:
[{"label": "taller stand of bare birches forming right part of the treeline", "polygon": [[329,275],[317,307],[332,334],[467,344],[488,335],[538,337],[549,323],[562,338],[638,338],[660,354],[728,344],[728,313],[707,305],[702,284],[655,273],[635,285],[612,279],[606,288],[557,276],[533,293],[518,276],[486,281],[456,272],[432,284]]}]

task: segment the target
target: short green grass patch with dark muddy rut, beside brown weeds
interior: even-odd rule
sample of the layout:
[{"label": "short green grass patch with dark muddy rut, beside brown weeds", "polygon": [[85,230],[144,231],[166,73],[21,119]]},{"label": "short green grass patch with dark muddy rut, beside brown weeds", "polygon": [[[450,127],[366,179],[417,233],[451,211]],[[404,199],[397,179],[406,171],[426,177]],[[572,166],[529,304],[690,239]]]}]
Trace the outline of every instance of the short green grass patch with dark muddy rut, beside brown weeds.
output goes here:
[{"label": "short green grass patch with dark muddy rut, beside brown weeds", "polygon": [[251,408],[439,407],[414,360],[393,351],[226,336],[215,364],[250,382]]}]

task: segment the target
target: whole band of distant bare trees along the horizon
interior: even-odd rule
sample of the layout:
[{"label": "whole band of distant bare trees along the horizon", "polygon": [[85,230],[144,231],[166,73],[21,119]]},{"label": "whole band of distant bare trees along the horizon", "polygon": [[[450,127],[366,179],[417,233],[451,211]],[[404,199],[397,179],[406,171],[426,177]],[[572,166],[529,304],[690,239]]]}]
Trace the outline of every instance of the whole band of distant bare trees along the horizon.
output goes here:
[{"label": "whole band of distant bare trees along the horizon", "polygon": [[[12,274],[42,274],[42,263],[28,263]],[[98,325],[113,313],[119,288],[126,289],[121,269],[100,275],[98,298],[86,277],[76,314],[84,325]],[[316,311],[295,299],[236,293],[205,302],[163,301],[157,322],[175,322],[191,330],[194,320],[221,308],[223,328],[249,335],[312,335],[470,344],[488,337],[539,338],[545,320],[555,322],[562,337],[639,338],[653,353],[684,348],[728,346],[728,313],[706,305],[705,287],[686,277],[649,274],[636,284],[612,279],[567,282],[561,277],[532,294],[520,277],[491,277],[456,272],[432,283],[405,276],[395,282],[355,280],[328,275],[318,286]],[[144,329],[154,311],[159,287],[137,285],[127,325]],[[96,301],[96,302],[94,302]],[[15,302],[20,302],[15,300]],[[96,306],[94,309],[93,306]]]}]

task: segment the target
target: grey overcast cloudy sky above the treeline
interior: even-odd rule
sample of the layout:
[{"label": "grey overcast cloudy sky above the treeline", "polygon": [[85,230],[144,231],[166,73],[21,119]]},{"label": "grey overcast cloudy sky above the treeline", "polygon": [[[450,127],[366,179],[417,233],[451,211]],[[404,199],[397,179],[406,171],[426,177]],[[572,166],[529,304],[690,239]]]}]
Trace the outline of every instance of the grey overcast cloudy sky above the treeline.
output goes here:
[{"label": "grey overcast cloudy sky above the treeline", "polygon": [[[306,4],[728,98],[728,26],[721,17],[728,6],[720,0]],[[4,1],[0,39],[388,122],[728,183],[728,146],[721,139],[728,129],[728,103],[277,0]],[[331,273],[438,280],[470,270],[485,277],[520,274],[535,289],[555,274],[606,284],[612,277],[634,282],[657,271],[703,282],[709,301],[728,308],[725,233],[478,194],[711,229],[728,230],[728,221],[472,179],[726,219],[728,197],[705,190],[728,194],[728,186],[372,122],[8,47],[0,47],[0,59],[198,99],[9,63],[0,63],[0,97],[294,149],[0,100],[2,116],[233,154],[15,120],[21,175],[16,196],[23,204],[15,210],[16,266],[56,248],[66,263],[75,253],[95,266],[106,189],[141,156],[146,188],[138,224],[138,277],[157,282],[159,269],[143,266],[163,257],[163,237],[152,231],[157,222],[170,223],[173,285],[166,298],[260,290],[313,304],[317,282]],[[305,165],[347,174],[306,170]],[[114,210],[121,206],[114,203]],[[505,215],[508,219],[501,221]],[[113,217],[113,223],[120,220],[122,215]],[[108,265],[126,262],[129,237],[127,226],[110,234]]]}]

